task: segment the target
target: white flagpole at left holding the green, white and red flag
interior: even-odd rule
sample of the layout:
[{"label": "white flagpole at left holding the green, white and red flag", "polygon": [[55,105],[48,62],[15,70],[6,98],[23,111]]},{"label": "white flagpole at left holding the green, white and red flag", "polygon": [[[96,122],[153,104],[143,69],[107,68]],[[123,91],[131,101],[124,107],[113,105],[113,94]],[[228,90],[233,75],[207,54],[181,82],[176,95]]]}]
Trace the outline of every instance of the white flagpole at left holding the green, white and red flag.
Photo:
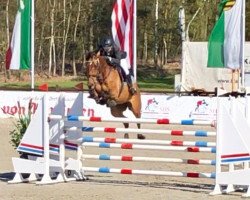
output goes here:
[{"label": "white flagpole at left holding the green, white and red flag", "polygon": [[35,88],[35,80],[34,80],[34,49],[35,49],[35,41],[34,41],[34,36],[35,36],[35,0],[31,0],[31,90],[34,90]]}]

